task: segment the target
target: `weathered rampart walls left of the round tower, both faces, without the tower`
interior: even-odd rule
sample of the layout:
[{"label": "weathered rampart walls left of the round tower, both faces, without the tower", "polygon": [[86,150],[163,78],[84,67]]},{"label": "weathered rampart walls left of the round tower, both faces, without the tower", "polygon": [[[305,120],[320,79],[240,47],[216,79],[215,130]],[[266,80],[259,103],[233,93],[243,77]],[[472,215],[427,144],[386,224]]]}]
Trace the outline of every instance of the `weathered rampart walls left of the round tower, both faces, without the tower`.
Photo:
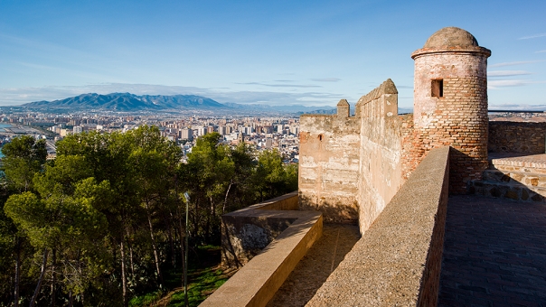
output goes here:
[{"label": "weathered rampart walls left of the round tower, both faces, without the tower", "polygon": [[300,117],[300,209],[320,210],[325,221],[359,221],[363,232],[404,181],[411,116],[398,116],[391,79],[359,100],[355,116],[347,111]]}]

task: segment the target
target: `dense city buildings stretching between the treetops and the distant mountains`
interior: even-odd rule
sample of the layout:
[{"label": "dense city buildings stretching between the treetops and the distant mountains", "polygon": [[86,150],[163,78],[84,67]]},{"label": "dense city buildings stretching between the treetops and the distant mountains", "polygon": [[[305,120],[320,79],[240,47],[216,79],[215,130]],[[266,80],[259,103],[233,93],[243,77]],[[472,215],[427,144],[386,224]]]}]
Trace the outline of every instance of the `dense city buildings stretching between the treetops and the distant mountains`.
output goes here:
[{"label": "dense city buildings stretching between the treetops and the distant mountains", "polygon": [[284,163],[297,163],[299,158],[297,116],[214,116],[199,111],[192,116],[106,111],[55,114],[12,107],[3,107],[0,112],[3,144],[16,135],[33,135],[46,140],[50,158],[55,156],[55,143],[67,135],[89,131],[127,132],[138,126],[159,127],[163,136],[180,145],[184,161],[186,154],[192,152],[196,139],[212,132],[222,136],[223,144],[235,146],[245,142],[258,152],[276,148]]}]

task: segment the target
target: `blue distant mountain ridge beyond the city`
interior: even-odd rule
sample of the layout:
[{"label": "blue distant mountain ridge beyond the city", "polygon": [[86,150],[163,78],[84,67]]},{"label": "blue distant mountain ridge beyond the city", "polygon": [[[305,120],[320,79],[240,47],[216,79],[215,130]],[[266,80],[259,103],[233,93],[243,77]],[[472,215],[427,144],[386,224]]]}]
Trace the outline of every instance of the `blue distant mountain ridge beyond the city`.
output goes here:
[{"label": "blue distant mountain ridge beyond the city", "polygon": [[221,103],[195,95],[135,95],[130,93],[112,93],[101,95],[96,93],[53,101],[36,101],[24,104],[22,107],[34,108],[86,108],[113,111],[141,110],[180,110],[183,108],[212,109],[226,107]]}]

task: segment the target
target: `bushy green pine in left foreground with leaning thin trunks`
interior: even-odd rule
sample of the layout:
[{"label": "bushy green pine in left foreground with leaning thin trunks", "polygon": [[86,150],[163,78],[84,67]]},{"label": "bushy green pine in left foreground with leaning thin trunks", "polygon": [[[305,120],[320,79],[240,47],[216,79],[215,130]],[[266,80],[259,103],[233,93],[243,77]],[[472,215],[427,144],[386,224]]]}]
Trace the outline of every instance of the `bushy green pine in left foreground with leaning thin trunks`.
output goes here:
[{"label": "bushy green pine in left foreground with leaning thin trunks", "polygon": [[[99,209],[108,207],[108,181],[89,177],[82,157],[61,156],[36,174],[38,194],[26,191],[5,202],[6,215],[42,253],[41,273],[30,304],[36,302],[52,255],[52,295],[57,275],[70,300],[83,293],[100,274],[108,253],[102,242],[108,222]],[[60,260],[60,261],[58,261]],[[52,299],[54,302],[54,299]]]}]

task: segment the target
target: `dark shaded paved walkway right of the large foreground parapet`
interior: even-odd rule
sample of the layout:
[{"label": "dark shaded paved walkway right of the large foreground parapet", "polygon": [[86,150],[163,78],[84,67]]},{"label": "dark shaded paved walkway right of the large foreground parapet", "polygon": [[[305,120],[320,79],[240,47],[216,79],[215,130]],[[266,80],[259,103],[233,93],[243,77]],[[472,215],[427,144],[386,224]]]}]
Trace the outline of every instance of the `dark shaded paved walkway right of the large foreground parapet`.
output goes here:
[{"label": "dark shaded paved walkway right of the large foreground parapet", "polygon": [[451,197],[439,306],[546,306],[546,206]]}]

